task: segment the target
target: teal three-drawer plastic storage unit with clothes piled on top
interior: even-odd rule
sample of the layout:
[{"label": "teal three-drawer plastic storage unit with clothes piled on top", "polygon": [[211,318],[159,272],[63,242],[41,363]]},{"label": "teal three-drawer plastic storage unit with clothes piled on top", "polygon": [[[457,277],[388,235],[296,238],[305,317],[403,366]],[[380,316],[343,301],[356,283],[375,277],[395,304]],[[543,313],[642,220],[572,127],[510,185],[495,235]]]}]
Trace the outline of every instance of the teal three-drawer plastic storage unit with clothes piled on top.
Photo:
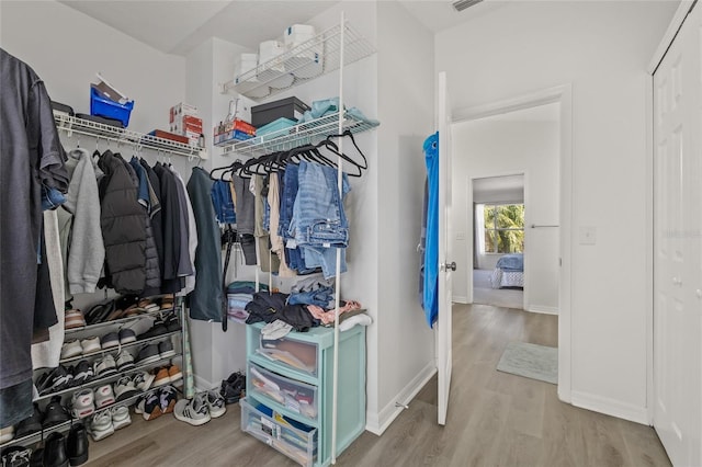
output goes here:
[{"label": "teal three-drawer plastic storage unit with clothes piled on top", "polygon": [[[263,323],[247,324],[247,397],[241,405],[241,429],[303,465],[299,452],[274,445],[271,436],[251,432],[254,408],[273,421],[285,420],[296,429],[316,430],[316,455],[310,465],[331,463],[333,411],[333,329],[313,328],[265,340]],[[337,455],[365,430],[365,328],[355,326],[339,333],[339,387],[337,405]],[[263,409],[262,409],[263,408]],[[267,412],[271,411],[271,412]],[[259,423],[261,418],[258,417]],[[245,428],[245,422],[248,428]],[[262,422],[261,422],[262,423]],[[297,425],[295,425],[297,423]],[[272,432],[272,428],[265,430]],[[305,430],[303,430],[305,431]],[[309,431],[312,433],[312,431]],[[313,449],[314,451],[314,449]],[[305,448],[308,453],[308,449]]]}]

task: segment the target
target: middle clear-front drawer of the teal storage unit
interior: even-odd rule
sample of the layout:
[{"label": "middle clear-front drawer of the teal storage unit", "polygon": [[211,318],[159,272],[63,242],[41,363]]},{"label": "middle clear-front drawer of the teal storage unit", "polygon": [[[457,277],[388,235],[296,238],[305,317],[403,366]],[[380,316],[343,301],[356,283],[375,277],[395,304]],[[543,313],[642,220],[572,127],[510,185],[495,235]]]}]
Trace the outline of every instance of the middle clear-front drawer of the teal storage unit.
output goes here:
[{"label": "middle clear-front drawer of the teal storage unit", "polygon": [[[258,400],[271,400],[288,412],[317,420],[317,386],[290,379],[249,362],[247,394]],[[273,406],[274,407],[274,406]]]}]

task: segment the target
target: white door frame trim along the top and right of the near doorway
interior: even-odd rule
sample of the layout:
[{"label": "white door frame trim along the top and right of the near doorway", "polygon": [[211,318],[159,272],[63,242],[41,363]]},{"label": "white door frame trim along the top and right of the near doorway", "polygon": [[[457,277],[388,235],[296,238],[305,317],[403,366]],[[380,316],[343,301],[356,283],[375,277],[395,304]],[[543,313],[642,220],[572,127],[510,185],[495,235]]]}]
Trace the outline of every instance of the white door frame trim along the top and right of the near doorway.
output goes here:
[{"label": "white door frame trim along the top and right of the near doorway", "polygon": [[490,102],[453,111],[453,124],[491,115],[520,111],[552,103],[561,104],[559,150],[559,224],[561,273],[558,298],[558,399],[571,401],[571,205],[573,205],[573,86],[570,83],[544,89],[518,98]]}]

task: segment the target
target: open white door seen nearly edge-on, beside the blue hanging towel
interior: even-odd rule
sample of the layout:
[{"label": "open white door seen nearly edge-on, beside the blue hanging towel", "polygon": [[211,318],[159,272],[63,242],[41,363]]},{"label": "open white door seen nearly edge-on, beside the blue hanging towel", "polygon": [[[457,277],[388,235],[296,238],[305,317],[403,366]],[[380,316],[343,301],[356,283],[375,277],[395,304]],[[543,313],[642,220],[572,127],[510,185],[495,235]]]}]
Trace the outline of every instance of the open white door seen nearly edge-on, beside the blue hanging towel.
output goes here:
[{"label": "open white door seen nearly edge-on, beside the blue hanging towel", "polygon": [[437,369],[439,373],[439,424],[446,424],[451,390],[452,338],[451,273],[455,262],[449,241],[451,220],[451,111],[446,91],[446,73],[439,73],[439,317],[437,319]]}]

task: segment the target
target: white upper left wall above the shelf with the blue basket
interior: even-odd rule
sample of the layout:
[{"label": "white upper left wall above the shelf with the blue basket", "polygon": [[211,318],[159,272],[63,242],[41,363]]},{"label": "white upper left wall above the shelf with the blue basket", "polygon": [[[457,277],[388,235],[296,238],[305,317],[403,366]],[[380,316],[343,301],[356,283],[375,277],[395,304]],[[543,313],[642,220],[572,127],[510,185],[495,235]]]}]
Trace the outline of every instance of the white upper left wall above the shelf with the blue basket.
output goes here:
[{"label": "white upper left wall above the shelf with the blue basket", "polygon": [[185,95],[185,60],[55,1],[0,2],[0,46],[30,65],[54,101],[90,114],[100,73],[135,101],[129,129],[168,129],[171,105]]}]

